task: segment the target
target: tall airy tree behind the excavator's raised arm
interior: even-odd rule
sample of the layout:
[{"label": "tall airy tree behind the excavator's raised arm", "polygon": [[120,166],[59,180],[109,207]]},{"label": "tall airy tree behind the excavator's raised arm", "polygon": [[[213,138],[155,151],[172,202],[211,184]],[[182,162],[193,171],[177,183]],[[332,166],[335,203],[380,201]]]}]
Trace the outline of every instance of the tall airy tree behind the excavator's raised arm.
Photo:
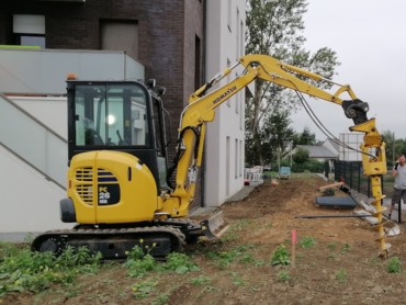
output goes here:
[{"label": "tall airy tree behind the excavator's raised arm", "polygon": [[[247,0],[246,53],[269,55],[331,79],[335,67],[339,65],[336,53],[324,47],[311,55],[302,48],[305,42],[301,35],[304,30],[302,19],[306,7],[305,0]],[[322,89],[330,88],[330,83],[309,82]],[[297,105],[292,90],[262,80],[256,81],[253,99],[246,105],[246,136],[249,136],[246,140],[252,144],[258,163],[263,165],[264,161],[260,133],[263,122],[270,117],[269,113],[277,108],[292,112]]]}]

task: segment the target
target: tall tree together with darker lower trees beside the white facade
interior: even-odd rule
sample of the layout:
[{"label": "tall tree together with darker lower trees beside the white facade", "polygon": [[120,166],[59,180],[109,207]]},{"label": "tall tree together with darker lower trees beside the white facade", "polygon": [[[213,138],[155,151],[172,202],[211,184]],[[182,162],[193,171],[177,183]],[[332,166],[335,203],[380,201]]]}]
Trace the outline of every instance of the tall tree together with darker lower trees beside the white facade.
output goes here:
[{"label": "tall tree together with darker lower trees beside the white facade", "polygon": [[[269,55],[281,61],[331,79],[340,65],[335,50],[322,47],[315,53],[303,46],[303,16],[305,0],[247,0],[246,54]],[[328,82],[316,82],[297,76],[323,90]],[[246,162],[271,163],[277,149],[286,154],[286,143],[294,145],[316,143],[308,127],[296,133],[290,115],[301,108],[293,90],[271,82],[256,80],[253,98],[246,103]]]}]

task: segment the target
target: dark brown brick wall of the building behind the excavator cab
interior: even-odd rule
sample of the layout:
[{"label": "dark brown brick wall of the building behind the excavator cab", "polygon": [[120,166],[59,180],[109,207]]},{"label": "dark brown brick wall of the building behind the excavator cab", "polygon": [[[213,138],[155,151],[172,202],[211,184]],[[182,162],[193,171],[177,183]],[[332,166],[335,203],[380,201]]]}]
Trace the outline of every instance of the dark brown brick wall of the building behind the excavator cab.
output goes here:
[{"label": "dark brown brick wall of the building behind the excavator cab", "polygon": [[[0,44],[14,43],[11,35],[13,14],[45,15],[46,47],[61,49],[100,49],[103,20],[137,21],[138,60],[146,68],[146,79],[155,78],[158,87],[167,88],[163,102],[171,114],[171,163],[179,116],[194,91],[196,35],[204,45],[203,1],[87,0],[81,3],[3,0],[0,2]],[[201,204],[200,183],[193,206]]]}]

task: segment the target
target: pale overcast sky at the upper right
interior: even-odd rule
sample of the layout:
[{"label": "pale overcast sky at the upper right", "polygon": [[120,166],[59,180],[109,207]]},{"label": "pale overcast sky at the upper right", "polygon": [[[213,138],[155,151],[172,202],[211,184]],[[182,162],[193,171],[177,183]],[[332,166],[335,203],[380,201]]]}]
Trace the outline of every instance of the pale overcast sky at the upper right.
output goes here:
[{"label": "pale overcast sky at the upper right", "polygon": [[[304,15],[307,38],[305,48],[312,53],[320,47],[337,52],[341,66],[334,80],[351,84],[357,98],[370,104],[368,117],[376,117],[380,132],[395,132],[406,137],[406,1],[405,0],[309,0]],[[338,87],[334,87],[335,92]],[[338,137],[350,133],[352,120],[340,105],[311,99],[308,104],[324,125]],[[349,99],[342,93],[341,99]],[[291,116],[293,127],[301,132],[307,125],[317,139],[326,136],[316,127],[305,110]]]}]

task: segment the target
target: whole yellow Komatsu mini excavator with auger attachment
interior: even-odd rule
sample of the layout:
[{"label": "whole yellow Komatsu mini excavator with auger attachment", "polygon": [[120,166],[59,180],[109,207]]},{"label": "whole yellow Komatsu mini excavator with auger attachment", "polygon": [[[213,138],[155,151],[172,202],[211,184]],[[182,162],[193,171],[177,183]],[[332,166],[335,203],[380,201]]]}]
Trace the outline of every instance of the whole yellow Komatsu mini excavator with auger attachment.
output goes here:
[{"label": "whole yellow Komatsu mini excavator with auger attachment", "polygon": [[[207,93],[238,65],[244,66],[240,76]],[[358,100],[349,86],[340,86],[330,94],[295,75],[330,82],[264,55],[244,56],[216,75],[190,95],[181,113],[171,166],[168,166],[170,139],[165,121],[169,113],[161,100],[165,88],[156,88],[155,80],[145,86],[138,81],[83,81],[69,75],[68,197],[60,201],[60,219],[78,225],[40,235],[32,249],[59,255],[68,246],[86,246],[106,259],[123,259],[134,246],[143,246],[148,247],[151,256],[165,259],[170,252],[182,251],[183,245],[196,241],[199,236],[217,238],[228,227],[222,219],[217,219],[215,231],[208,221],[195,223],[188,218],[202,162],[206,123],[214,120],[215,108],[256,79],[342,106],[346,116],[354,123],[350,131],[365,134],[361,146],[363,170],[372,179],[381,223],[380,179],[386,173],[385,144],[375,120],[366,118],[368,103]],[[342,92],[348,92],[351,100],[341,100]],[[371,148],[376,154],[371,155]],[[377,229],[381,250],[386,251],[382,225]]]}]

